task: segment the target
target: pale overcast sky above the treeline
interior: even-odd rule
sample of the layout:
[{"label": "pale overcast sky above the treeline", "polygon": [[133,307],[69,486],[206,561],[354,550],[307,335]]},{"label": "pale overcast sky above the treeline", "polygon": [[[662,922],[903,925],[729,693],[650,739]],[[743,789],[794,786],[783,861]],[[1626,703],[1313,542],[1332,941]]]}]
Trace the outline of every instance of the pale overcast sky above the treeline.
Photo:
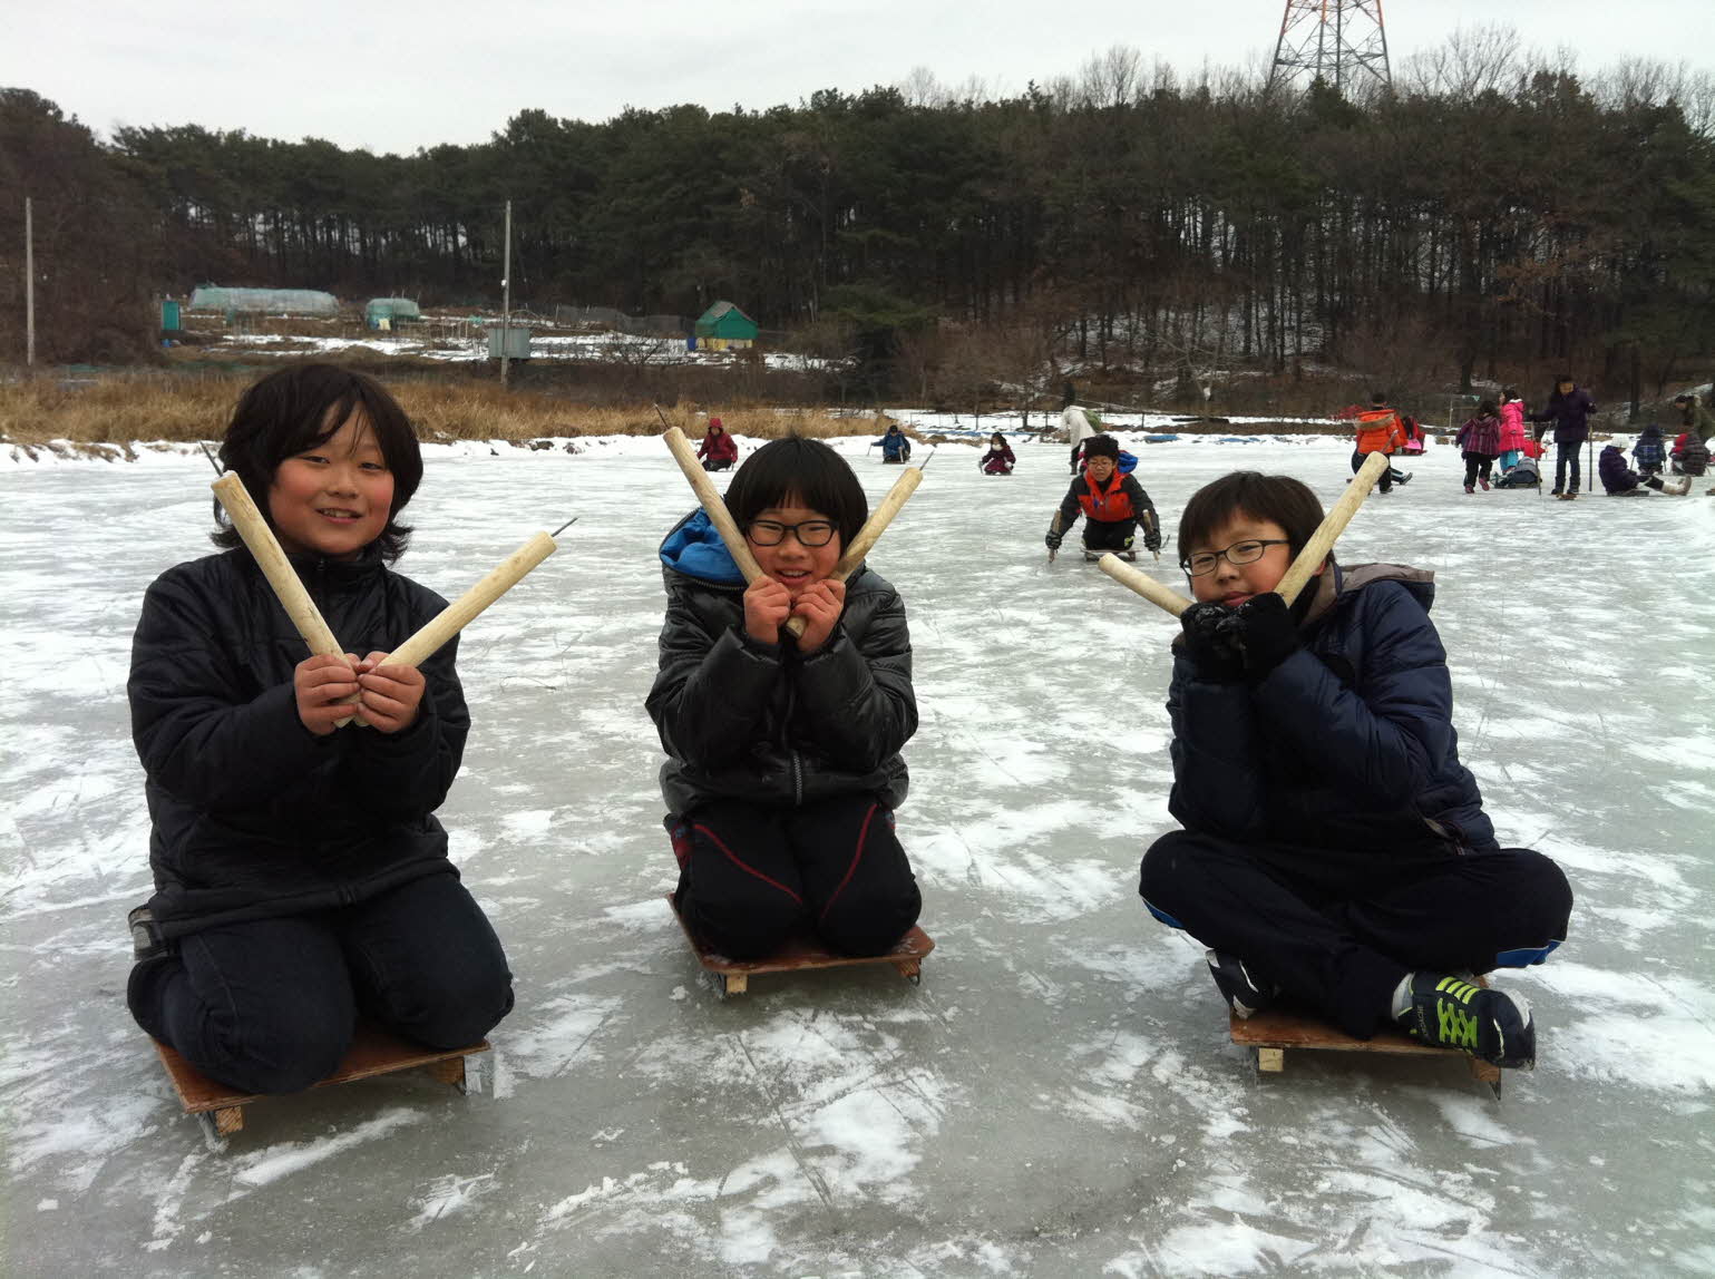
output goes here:
[{"label": "pale overcast sky above the treeline", "polygon": [[[1015,93],[1128,45],[1195,75],[1274,51],[1285,0],[72,0],[0,3],[0,86],[101,134],[201,123],[415,151],[478,142],[523,108],[763,108],[816,89],[979,77]],[[1458,27],[1509,26],[1581,70],[1710,63],[1712,0],[1387,0],[1394,67]]]}]

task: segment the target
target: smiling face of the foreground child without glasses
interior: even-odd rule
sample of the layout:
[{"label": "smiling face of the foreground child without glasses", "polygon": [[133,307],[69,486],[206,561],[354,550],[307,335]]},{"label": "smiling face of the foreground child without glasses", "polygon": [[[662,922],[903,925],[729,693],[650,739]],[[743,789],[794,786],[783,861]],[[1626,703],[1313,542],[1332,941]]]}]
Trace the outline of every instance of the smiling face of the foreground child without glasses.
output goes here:
[{"label": "smiling face of the foreground child without glasses", "polygon": [[391,509],[393,471],[362,413],[281,461],[268,489],[268,514],[288,554],[350,559],[381,537]]}]

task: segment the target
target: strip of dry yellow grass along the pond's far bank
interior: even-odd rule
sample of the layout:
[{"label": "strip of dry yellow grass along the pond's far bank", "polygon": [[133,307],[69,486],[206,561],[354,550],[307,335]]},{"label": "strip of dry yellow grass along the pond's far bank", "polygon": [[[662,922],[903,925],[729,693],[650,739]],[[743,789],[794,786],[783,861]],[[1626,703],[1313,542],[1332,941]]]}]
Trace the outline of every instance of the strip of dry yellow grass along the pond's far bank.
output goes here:
[{"label": "strip of dry yellow grass along the pond's far bank", "polygon": [[[45,444],[127,444],[130,441],[220,439],[249,375],[106,377],[70,389],[36,379],[0,384],[0,439]],[[386,379],[382,379],[386,381]],[[412,379],[388,384],[417,434],[437,439],[540,439],[544,435],[657,435],[653,405],[590,408],[539,391],[502,391],[492,382]],[[765,405],[677,405],[664,408],[671,425],[701,437],[708,413],[737,435],[878,434],[875,415],[837,417],[823,408]]]}]

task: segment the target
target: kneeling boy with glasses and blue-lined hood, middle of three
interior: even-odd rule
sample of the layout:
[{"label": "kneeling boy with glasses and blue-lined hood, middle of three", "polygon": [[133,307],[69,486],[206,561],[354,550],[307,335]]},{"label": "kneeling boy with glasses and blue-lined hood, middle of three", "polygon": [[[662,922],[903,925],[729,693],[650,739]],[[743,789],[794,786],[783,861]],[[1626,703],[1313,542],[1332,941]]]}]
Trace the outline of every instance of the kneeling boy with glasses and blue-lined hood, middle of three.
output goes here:
[{"label": "kneeling boy with glasses and blue-lined hood, middle of three", "polygon": [[660,547],[667,619],[647,708],[669,756],[674,900],[731,958],[799,931],[882,955],[921,909],[894,833],[899,751],[918,729],[906,605],[868,564],[830,579],[868,502],[820,441],[756,449],[725,501],[763,571],[749,586],[701,511]]}]

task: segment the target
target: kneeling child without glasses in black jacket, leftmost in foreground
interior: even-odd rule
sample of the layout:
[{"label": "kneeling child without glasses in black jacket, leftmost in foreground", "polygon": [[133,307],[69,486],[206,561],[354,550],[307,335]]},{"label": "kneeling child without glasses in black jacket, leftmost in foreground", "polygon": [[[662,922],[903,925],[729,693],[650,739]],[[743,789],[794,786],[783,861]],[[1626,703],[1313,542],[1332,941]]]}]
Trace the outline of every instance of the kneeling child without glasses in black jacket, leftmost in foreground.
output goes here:
[{"label": "kneeling child without glasses in black jacket, leftmost in foreground", "polygon": [[[156,893],[130,914],[127,998],[204,1075],[295,1092],[333,1073],[358,1013],[477,1042],[511,974],[434,818],[470,730],[458,643],[386,664],[446,607],[388,567],[422,478],[410,420],[362,374],[285,369],[238,399],[220,456],[352,652],[304,657],[230,525],[223,554],[149,586],[127,693]],[[367,727],[336,729],[353,693]]]}]

